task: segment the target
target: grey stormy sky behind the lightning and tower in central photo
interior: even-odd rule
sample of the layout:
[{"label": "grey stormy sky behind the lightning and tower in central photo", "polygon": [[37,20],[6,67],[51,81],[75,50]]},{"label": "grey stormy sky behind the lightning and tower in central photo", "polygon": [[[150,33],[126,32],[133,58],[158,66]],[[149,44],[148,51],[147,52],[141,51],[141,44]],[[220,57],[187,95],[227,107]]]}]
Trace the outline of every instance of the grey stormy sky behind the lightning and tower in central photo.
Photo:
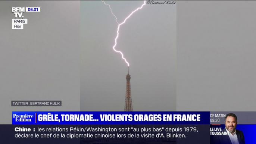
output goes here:
[{"label": "grey stormy sky behind the lightning and tower in central photo", "polygon": [[[143,4],[105,2],[119,23]],[[102,1],[80,2],[81,110],[124,110],[127,64],[112,49],[117,27]],[[175,111],[176,4],[146,4],[135,12],[120,26],[116,50],[130,64],[133,110]]]}]

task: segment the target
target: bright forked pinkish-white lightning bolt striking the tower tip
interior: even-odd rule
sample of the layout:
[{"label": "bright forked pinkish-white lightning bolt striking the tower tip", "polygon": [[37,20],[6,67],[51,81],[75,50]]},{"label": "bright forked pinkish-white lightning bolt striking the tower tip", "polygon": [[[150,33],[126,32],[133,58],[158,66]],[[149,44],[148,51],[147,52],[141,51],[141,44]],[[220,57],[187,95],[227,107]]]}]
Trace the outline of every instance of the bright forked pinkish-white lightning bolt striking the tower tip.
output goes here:
[{"label": "bright forked pinkish-white lightning bolt striking the tower tip", "polygon": [[[104,1],[102,1],[102,2],[103,2],[104,4],[106,4]],[[109,6],[109,8],[110,8],[110,5],[109,5],[109,4],[106,4],[106,5]],[[120,26],[121,26],[122,24],[124,24],[124,23],[126,22],[126,20],[127,20],[128,18],[130,18],[130,16],[131,16],[134,12],[138,11],[139,9],[141,9],[144,5],[146,5],[146,0],[144,0],[144,4],[142,4],[141,7],[138,7],[136,10],[132,11],[132,13],[131,13],[129,16],[127,16],[127,18],[125,18],[124,22],[122,22],[121,24],[118,23],[116,16],[113,14],[112,9],[110,8],[111,13],[113,14],[113,16],[115,16],[116,22],[118,23],[118,28],[117,28],[117,31],[116,31],[117,35],[116,35],[116,38],[115,38],[115,45],[113,46],[113,50],[115,50],[117,53],[121,53],[122,59],[125,60],[125,62],[127,63],[128,66],[129,66],[129,63],[128,63],[127,60],[124,58],[124,54],[123,54],[121,51],[117,51],[117,50],[115,49],[116,44],[117,44],[116,41],[117,41],[117,39],[118,39],[118,37],[119,37],[119,28],[120,28]]]}]

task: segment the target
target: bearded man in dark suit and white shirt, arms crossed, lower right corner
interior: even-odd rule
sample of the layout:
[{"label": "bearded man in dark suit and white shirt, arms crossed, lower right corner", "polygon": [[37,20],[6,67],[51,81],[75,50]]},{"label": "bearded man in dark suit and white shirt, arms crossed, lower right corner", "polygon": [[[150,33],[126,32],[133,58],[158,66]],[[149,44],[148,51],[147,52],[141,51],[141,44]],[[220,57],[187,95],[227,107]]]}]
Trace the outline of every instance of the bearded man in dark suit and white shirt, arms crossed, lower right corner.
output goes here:
[{"label": "bearded man in dark suit and white shirt, arms crossed, lower right corner", "polygon": [[228,135],[215,135],[213,137],[214,144],[245,144],[243,132],[235,129],[237,127],[237,116],[234,113],[226,115],[225,127],[222,131],[228,132]]}]

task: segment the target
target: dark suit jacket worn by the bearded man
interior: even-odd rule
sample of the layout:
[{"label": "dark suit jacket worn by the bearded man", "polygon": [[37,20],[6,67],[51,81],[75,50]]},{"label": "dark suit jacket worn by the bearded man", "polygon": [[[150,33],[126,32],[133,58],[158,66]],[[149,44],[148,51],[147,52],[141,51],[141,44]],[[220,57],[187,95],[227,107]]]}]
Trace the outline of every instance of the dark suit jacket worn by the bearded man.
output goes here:
[{"label": "dark suit jacket worn by the bearded man", "polygon": [[[239,131],[237,129],[235,129],[237,131],[237,139],[239,144],[245,144],[244,143],[244,134],[242,131]],[[222,131],[226,131],[226,128],[222,129]],[[232,144],[230,137],[228,135],[214,135],[213,137],[213,144]]]}]

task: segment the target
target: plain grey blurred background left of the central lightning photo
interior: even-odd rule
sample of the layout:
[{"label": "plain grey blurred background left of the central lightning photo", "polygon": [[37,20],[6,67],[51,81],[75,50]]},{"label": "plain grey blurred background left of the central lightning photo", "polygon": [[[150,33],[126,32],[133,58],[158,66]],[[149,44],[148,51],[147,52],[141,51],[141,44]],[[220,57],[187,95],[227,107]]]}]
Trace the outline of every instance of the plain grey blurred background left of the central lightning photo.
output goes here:
[{"label": "plain grey blurred background left of the central lightning photo", "polygon": [[[79,1],[0,1],[0,124],[12,111],[78,111]],[[24,29],[12,29],[12,7],[24,12]],[[65,10],[67,12],[65,12]],[[62,106],[11,106],[12,100],[61,100]]]}]

